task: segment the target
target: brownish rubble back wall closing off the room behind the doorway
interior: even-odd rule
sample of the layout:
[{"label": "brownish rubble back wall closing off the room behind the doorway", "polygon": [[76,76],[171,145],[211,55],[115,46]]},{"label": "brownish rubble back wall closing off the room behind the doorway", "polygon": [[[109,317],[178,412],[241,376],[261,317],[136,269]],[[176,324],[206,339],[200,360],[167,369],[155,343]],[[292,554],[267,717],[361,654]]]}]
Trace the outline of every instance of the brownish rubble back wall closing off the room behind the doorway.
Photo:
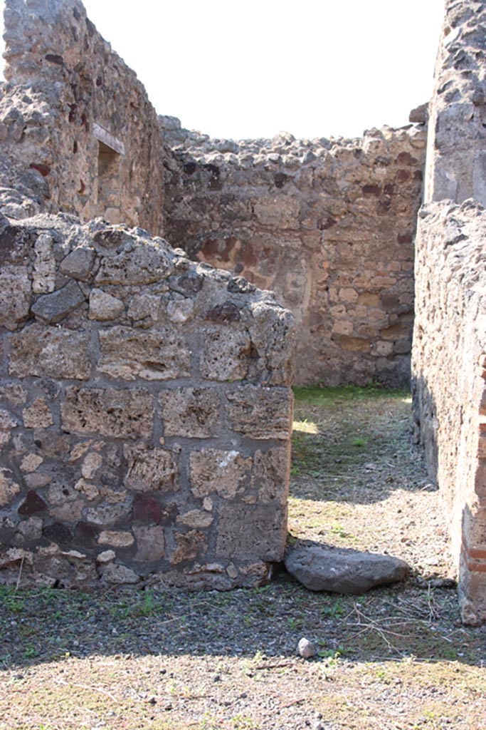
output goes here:
[{"label": "brownish rubble back wall closing off the room behind the doorway", "polygon": [[297,383],[409,383],[425,126],[312,142],[161,126],[165,236],[277,293],[298,324]]}]

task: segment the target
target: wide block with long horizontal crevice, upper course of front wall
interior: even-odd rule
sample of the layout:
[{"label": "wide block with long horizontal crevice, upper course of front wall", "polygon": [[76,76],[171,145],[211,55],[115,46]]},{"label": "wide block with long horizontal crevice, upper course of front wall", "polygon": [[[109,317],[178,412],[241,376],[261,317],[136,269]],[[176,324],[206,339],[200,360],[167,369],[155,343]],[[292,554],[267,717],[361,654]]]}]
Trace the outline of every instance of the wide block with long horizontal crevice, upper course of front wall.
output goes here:
[{"label": "wide block with long horizontal crevice, upper course of front wall", "polygon": [[169,328],[100,331],[98,370],[124,380],[171,380],[188,377],[190,353],[184,337]]}]

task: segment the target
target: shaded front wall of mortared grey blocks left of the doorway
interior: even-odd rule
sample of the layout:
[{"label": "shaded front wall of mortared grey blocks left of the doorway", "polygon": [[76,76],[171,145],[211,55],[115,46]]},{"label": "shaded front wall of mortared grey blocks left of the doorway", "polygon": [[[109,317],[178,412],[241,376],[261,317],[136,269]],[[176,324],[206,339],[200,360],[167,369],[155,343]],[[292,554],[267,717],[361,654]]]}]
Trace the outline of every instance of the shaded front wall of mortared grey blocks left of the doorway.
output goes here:
[{"label": "shaded front wall of mortared grey blocks left of the doorway", "polygon": [[293,318],[140,228],[0,217],[0,582],[266,580]]}]

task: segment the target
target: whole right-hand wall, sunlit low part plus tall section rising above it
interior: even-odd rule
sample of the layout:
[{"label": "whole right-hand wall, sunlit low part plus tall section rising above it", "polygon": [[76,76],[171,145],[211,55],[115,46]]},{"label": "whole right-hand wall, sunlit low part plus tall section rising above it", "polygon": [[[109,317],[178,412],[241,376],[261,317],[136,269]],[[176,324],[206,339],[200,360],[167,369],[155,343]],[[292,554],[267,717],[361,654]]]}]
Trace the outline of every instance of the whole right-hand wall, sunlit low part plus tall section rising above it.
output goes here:
[{"label": "whole right-hand wall, sunlit low part plus tall section rising above it", "polygon": [[486,2],[449,0],[446,9],[428,128],[430,202],[418,224],[412,382],[415,421],[450,523],[463,618],[477,623],[486,621],[486,220],[478,207]]}]

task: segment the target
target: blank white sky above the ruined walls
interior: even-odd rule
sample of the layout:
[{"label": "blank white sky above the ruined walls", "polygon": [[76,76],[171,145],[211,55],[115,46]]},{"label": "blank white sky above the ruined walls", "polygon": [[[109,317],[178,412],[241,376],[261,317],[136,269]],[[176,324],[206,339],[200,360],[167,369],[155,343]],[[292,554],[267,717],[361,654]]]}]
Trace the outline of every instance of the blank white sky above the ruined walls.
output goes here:
[{"label": "blank white sky above the ruined walls", "polygon": [[160,114],[211,137],[285,130],[312,138],[407,124],[409,110],[431,96],[444,0],[85,0],[85,7]]}]

